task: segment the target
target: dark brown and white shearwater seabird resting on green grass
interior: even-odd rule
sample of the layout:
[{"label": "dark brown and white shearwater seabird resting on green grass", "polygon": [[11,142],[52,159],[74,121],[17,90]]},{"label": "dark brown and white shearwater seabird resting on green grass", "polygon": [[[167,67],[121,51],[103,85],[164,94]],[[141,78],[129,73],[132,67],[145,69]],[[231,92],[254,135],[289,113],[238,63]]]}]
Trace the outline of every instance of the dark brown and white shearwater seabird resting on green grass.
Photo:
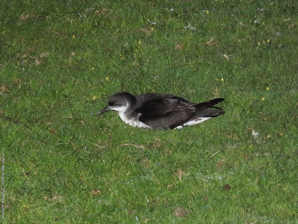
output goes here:
[{"label": "dark brown and white shearwater seabird resting on green grass", "polygon": [[117,111],[126,124],[146,129],[180,129],[196,125],[224,113],[215,104],[223,98],[193,103],[180,96],[163,93],[132,95],[128,92],[114,93],[108,99],[108,106],[99,111]]}]

